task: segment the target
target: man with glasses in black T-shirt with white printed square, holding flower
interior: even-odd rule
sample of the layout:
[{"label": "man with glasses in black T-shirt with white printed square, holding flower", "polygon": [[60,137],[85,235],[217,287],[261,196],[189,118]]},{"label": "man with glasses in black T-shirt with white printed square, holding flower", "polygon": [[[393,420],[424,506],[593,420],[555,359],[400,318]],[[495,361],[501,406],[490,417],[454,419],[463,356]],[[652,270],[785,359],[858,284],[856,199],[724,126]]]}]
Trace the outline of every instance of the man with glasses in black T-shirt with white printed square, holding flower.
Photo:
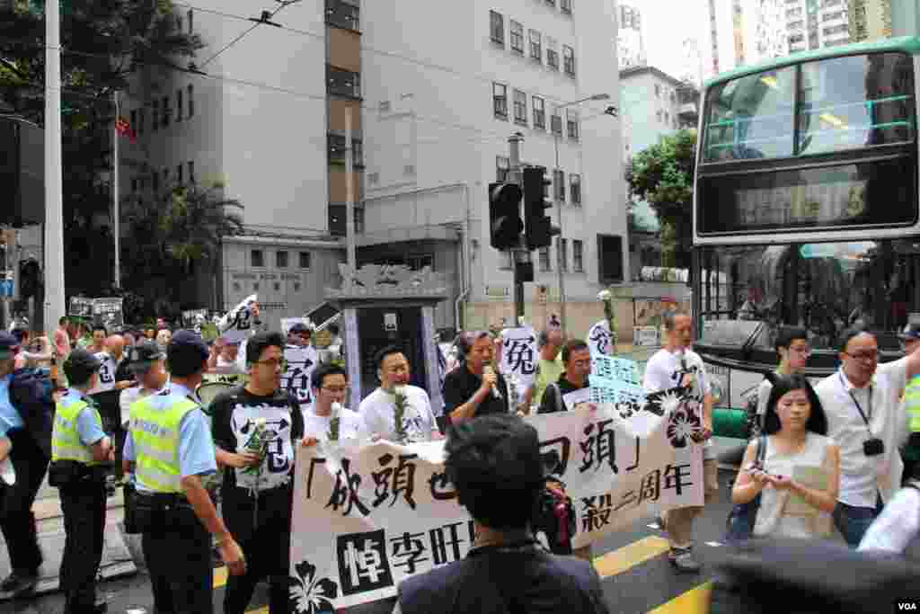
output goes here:
[{"label": "man with glasses in black T-shirt with white printed square, holding flower", "polygon": [[270,583],[270,613],[289,611],[294,452],[304,436],[304,416],[281,388],[284,345],[280,332],[250,337],[246,385],[218,395],[211,405],[217,462],[224,467],[224,519],[247,560],[246,573],[227,580],[226,614],[244,614],[263,578]]}]

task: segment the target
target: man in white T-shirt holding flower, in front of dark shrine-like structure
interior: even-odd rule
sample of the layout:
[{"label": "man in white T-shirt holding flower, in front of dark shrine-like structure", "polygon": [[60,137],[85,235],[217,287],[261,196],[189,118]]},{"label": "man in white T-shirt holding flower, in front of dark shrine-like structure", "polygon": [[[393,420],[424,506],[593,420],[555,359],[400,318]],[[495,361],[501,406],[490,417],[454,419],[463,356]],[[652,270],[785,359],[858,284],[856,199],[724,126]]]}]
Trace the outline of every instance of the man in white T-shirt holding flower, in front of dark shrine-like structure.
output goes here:
[{"label": "man in white T-shirt holding flower, in front of dark shrine-like structure", "polygon": [[365,397],[358,410],[367,433],[398,443],[431,441],[437,428],[431,399],[423,389],[408,384],[406,354],[388,345],[376,353],[374,364],[380,388]]}]

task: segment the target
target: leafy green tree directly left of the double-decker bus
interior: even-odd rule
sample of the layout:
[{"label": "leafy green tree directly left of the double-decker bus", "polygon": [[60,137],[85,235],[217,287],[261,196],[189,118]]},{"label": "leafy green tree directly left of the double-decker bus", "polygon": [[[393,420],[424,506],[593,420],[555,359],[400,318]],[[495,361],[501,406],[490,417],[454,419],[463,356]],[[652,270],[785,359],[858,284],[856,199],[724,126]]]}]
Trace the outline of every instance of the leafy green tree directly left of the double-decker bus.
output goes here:
[{"label": "leafy green tree directly left of the double-decker bus", "polygon": [[696,130],[663,137],[627,165],[630,196],[649,203],[658,215],[665,266],[690,268],[695,167]]}]

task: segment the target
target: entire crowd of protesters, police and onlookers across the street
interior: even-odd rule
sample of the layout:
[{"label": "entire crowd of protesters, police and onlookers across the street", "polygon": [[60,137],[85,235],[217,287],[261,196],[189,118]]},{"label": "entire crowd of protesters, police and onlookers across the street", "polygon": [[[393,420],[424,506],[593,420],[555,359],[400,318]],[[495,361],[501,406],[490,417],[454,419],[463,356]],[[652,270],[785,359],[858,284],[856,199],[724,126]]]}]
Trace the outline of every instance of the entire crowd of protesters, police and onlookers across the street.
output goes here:
[{"label": "entire crowd of protesters, police and onlookers across the street", "polygon": [[[682,388],[700,408],[694,437],[708,504],[719,489],[711,386],[691,349],[690,316],[668,313],[664,328],[665,345],[646,365],[643,387],[648,393]],[[517,587],[516,603],[548,599],[581,604],[575,611],[606,611],[590,565],[547,559],[551,555],[535,545],[528,524],[533,505],[526,502],[544,488],[562,496],[564,491],[546,482],[535,431],[517,418],[567,411],[567,395],[591,386],[586,342],[566,340],[558,329],[543,331],[533,384],[515,390],[506,377],[511,374],[500,372],[500,337],[463,332],[444,348],[444,407],[434,411],[428,391],[410,385],[412,365],[397,346],[376,353],[379,387],[348,408],[348,373],[338,362],[316,366],[309,402],[282,388],[285,351],[310,342],[312,331],[304,326],[286,336],[259,331],[240,342],[213,343],[191,330],[173,332],[166,322],[109,332],[94,327],[86,341],[76,341],[62,319],[52,341],[30,340],[22,330],[0,333],[0,461],[12,460],[17,474],[13,484],[0,484],[0,527],[13,567],[0,590],[28,594],[38,580],[42,556],[31,504],[47,472],[60,489],[64,516],[65,611],[103,611],[95,583],[107,474],[114,465],[128,477],[126,528],[143,536],[155,611],[213,610],[213,550],[230,574],[225,612],[245,612],[263,579],[270,583],[270,611],[289,611],[296,450],[328,440],[336,418],[339,438],[418,442],[449,434],[446,467],[477,523],[477,540],[456,568],[405,583],[397,610],[430,611],[431,600],[458,578],[513,561],[526,570],[508,579]],[[848,332],[840,369],[813,388],[803,375],[808,339],[807,331],[787,329],[776,341],[780,363],[758,388],[759,429],[732,486],[732,501],[758,501],[753,538],[827,539],[836,528],[853,549],[903,551],[920,531],[920,476],[910,454],[920,439],[920,327],[903,331],[905,356],[884,365],[870,332]],[[66,382],[44,421],[24,411],[17,380],[41,365]],[[55,376],[57,365],[62,373]],[[243,383],[209,403],[199,399],[206,373],[234,370],[246,376]],[[397,413],[397,404],[406,401],[411,411]],[[490,450],[485,456],[483,446]],[[489,486],[465,478],[465,471],[473,471],[471,458],[484,463],[475,475],[490,476]],[[530,474],[533,481],[502,485],[506,474]],[[693,522],[702,509],[674,509],[661,518],[678,572],[700,569]],[[590,547],[574,554],[592,558]],[[553,586],[555,597],[548,591]],[[474,611],[504,597],[452,594],[454,604],[477,607],[451,611]]]}]

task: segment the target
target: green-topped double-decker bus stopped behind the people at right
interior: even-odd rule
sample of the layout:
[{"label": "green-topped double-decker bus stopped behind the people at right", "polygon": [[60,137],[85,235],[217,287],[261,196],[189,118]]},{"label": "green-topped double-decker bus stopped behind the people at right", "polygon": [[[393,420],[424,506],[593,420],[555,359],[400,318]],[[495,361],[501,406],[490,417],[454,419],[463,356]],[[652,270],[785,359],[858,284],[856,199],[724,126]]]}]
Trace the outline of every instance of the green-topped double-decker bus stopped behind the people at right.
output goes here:
[{"label": "green-topped double-decker bus stopped behind the people at right", "polygon": [[808,375],[860,324],[882,360],[920,319],[920,39],[803,52],[706,84],[694,199],[694,311],[720,406],[776,367],[782,326],[809,330]]}]

